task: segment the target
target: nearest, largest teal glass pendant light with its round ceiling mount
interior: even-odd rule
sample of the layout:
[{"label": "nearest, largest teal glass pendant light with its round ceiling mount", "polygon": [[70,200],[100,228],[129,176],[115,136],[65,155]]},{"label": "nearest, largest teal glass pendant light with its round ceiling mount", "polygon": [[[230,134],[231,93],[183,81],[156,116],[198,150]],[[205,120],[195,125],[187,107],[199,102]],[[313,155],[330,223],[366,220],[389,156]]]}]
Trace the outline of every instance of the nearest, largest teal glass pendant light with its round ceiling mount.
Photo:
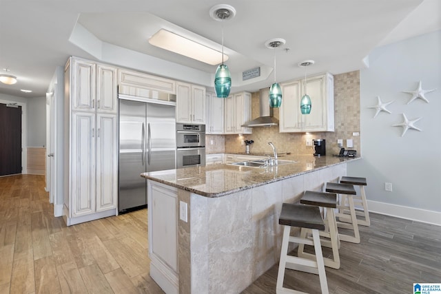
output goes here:
[{"label": "nearest, largest teal glass pendant light with its round ceiling mount", "polygon": [[[234,7],[227,4],[220,4],[209,10],[212,19],[216,21],[227,21],[236,15]],[[214,90],[218,98],[227,98],[232,87],[232,75],[227,65],[223,63],[223,27],[222,27],[222,63],[218,66],[214,75]]]}]

